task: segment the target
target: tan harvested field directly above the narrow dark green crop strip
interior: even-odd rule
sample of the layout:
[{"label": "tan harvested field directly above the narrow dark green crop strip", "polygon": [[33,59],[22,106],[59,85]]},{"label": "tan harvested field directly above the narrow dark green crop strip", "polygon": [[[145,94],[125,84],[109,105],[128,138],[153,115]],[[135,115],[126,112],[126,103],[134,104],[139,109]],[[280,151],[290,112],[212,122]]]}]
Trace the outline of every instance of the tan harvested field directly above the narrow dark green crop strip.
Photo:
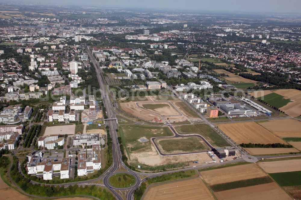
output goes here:
[{"label": "tan harvested field directly above the narrow dark green crop strip", "polygon": [[[233,171],[234,173],[229,173],[230,171]],[[248,165],[237,165],[233,167],[201,171],[200,173],[206,183],[209,185],[266,176],[266,174],[253,163]]]}]

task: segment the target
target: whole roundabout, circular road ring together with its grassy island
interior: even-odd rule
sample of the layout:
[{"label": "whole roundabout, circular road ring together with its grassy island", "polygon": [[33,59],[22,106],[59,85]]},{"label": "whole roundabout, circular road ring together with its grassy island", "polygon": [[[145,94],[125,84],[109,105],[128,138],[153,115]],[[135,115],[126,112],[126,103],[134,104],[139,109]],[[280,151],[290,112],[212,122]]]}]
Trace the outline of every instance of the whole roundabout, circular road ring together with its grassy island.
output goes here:
[{"label": "whole roundabout, circular road ring together with its grassy island", "polygon": [[115,172],[104,178],[104,184],[112,189],[127,190],[140,185],[140,177],[126,171]]}]

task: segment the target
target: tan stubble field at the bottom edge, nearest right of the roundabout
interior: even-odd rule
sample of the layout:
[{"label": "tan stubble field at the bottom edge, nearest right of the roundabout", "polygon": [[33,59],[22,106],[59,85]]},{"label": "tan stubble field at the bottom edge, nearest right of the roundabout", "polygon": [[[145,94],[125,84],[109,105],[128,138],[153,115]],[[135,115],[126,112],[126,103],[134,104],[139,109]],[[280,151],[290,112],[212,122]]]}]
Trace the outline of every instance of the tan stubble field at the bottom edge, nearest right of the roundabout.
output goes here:
[{"label": "tan stubble field at the bottom edge, nearest right of the roundabout", "polygon": [[144,200],[153,199],[214,199],[209,189],[200,178],[182,180],[173,183],[151,186],[144,195]]}]

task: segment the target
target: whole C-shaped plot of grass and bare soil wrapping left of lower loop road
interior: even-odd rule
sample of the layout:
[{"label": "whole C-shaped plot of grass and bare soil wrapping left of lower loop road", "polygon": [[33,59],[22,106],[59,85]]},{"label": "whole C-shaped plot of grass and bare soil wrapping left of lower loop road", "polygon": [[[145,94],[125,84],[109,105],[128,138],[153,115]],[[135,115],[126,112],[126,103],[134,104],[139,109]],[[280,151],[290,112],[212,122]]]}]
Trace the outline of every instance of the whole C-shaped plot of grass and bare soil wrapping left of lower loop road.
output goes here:
[{"label": "whole C-shaped plot of grass and bare soil wrapping left of lower loop road", "polygon": [[[119,134],[125,147],[128,162],[133,166],[141,165],[147,168],[161,165],[175,166],[181,163],[192,165],[192,161],[209,162],[212,159],[206,153],[194,153],[177,156],[160,156],[151,143],[152,137],[168,137],[173,133],[168,127],[153,127],[139,125],[120,125]],[[141,142],[145,138],[148,141]],[[181,164],[182,165],[182,164]]]}]

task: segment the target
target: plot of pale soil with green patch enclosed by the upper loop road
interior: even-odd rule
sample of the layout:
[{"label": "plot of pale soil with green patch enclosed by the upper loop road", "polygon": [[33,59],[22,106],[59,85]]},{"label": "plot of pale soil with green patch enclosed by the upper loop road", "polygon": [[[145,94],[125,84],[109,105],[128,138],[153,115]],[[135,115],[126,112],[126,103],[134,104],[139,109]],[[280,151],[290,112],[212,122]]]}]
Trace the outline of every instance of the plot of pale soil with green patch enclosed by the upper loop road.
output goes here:
[{"label": "plot of pale soil with green patch enclosed by the upper loop road", "polygon": [[138,103],[138,106],[145,108],[151,112],[156,112],[157,114],[160,114],[161,116],[177,116],[180,115],[178,111],[175,110],[175,108],[170,105],[169,102],[164,103]]}]

